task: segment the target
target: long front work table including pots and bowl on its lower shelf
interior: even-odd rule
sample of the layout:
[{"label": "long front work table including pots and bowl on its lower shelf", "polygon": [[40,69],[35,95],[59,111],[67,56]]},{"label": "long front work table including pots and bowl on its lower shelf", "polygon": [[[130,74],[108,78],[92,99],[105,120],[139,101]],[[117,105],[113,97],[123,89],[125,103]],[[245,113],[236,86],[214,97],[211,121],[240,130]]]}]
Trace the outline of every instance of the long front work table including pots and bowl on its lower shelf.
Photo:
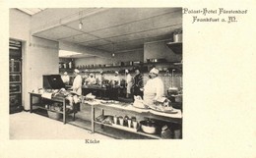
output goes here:
[{"label": "long front work table including pots and bowl on its lower shelf", "polygon": [[[88,103],[90,104],[90,103]],[[96,109],[101,110],[99,116],[95,116]],[[107,114],[105,114],[107,112]],[[118,116],[116,115],[118,114]],[[135,117],[136,116],[136,117]],[[103,103],[92,104],[92,132],[97,132],[95,125],[100,125],[101,131],[104,126],[117,129],[119,131],[131,132],[138,135],[143,135],[150,138],[174,138],[174,132],[170,129],[172,125],[181,126],[182,116],[178,112],[173,114],[165,114],[153,112],[148,109],[138,109],[129,104],[122,103],[105,105]],[[163,127],[167,127],[163,129]],[[168,131],[165,132],[165,131]],[[179,135],[181,130],[179,129]],[[109,133],[104,132],[109,135]],[[180,138],[178,134],[175,137]],[[118,138],[123,138],[119,135]]]}]

